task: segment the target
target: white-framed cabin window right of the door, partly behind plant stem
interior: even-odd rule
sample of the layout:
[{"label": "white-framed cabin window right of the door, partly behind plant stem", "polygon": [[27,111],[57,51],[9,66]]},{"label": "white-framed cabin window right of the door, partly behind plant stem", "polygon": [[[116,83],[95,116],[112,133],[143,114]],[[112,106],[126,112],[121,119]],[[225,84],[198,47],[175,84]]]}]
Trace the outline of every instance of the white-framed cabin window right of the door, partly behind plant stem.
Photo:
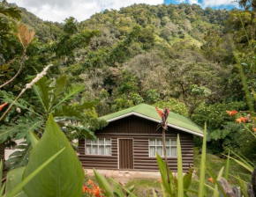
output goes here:
[{"label": "white-framed cabin window right of the door, partly behind plant stem", "polygon": [[[166,156],[177,157],[177,140],[165,139]],[[162,139],[150,139],[149,140],[149,156],[155,157],[156,152],[163,156]]]}]

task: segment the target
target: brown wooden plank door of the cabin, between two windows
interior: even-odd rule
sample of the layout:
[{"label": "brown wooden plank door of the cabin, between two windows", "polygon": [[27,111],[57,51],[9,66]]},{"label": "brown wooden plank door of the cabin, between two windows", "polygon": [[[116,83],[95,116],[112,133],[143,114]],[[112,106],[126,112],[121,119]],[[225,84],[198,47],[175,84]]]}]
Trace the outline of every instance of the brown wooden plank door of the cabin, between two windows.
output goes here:
[{"label": "brown wooden plank door of the cabin, between two windows", "polygon": [[132,139],[119,139],[119,169],[133,169]]}]

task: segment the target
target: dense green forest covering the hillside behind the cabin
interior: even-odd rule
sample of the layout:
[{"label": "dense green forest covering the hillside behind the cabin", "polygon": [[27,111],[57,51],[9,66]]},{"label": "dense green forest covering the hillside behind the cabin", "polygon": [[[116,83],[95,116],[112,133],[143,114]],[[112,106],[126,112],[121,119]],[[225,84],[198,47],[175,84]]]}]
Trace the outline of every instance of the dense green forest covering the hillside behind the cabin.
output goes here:
[{"label": "dense green forest covering the hillside behind the cabin", "polygon": [[[66,18],[64,23],[53,23],[16,4],[1,4],[20,10],[21,17],[6,19],[1,15],[0,84],[15,76],[22,62],[19,76],[1,90],[1,100],[10,103],[36,74],[53,64],[47,78],[37,84],[52,103],[36,99],[36,90],[26,91],[5,116],[0,134],[20,122],[24,125],[1,137],[1,142],[8,145],[11,138],[25,137],[27,132],[20,130],[38,119],[27,118],[32,112],[41,114],[42,120],[49,113],[82,120],[94,131],[106,124],[98,117],[147,103],[170,106],[172,112],[183,114],[200,127],[207,122],[208,151],[221,154],[228,149],[240,150],[255,159],[255,140],[226,113],[248,110],[237,63],[243,65],[249,89],[256,89],[256,18],[252,9],[133,4],[120,11],[102,11],[82,22]],[[19,22],[14,22],[16,18]],[[17,24],[35,32],[29,45],[24,46],[15,35],[20,31]],[[72,102],[54,107],[57,98],[69,94],[76,95],[69,100]],[[73,129],[82,128],[71,126]],[[67,136],[78,137],[72,133]],[[201,140],[195,138],[194,142],[200,145]]]}]

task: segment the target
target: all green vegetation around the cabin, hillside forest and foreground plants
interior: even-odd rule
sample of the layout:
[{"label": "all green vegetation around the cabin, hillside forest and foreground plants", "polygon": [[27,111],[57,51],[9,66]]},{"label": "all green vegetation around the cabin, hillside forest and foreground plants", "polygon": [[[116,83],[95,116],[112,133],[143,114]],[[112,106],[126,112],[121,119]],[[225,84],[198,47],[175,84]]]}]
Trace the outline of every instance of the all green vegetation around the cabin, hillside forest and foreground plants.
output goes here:
[{"label": "all green vegetation around the cabin, hillside forest and foreground plants", "polygon": [[[203,141],[195,138],[202,143],[199,186],[191,187],[192,168],[183,176],[178,137],[177,177],[157,157],[162,196],[227,196],[235,191],[230,175],[250,196],[255,183],[229,171],[230,159],[250,172],[256,164],[255,4],[238,3],[245,11],[133,4],[59,24],[0,2],[1,150],[24,141],[4,163],[0,196],[34,196],[34,188],[36,196],[135,196],[133,186],[97,171],[97,184],[85,186],[73,140],[94,139],[106,126],[98,116],[144,102],[207,123]],[[217,176],[207,151],[227,157]]]}]

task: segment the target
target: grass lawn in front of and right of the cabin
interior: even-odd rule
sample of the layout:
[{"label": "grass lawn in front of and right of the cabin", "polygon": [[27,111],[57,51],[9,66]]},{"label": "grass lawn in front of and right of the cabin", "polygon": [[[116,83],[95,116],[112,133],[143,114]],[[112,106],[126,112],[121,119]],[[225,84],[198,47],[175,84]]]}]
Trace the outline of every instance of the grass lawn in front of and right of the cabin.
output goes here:
[{"label": "grass lawn in front of and right of the cabin", "polygon": [[[200,177],[200,150],[199,148],[194,148],[194,173],[195,173],[195,179],[199,179]],[[222,166],[225,166],[226,159],[216,157],[212,154],[207,154],[207,166],[215,173],[215,176],[219,173],[219,171],[222,169]],[[223,172],[224,173],[224,172]],[[241,167],[239,164],[237,164],[235,161],[230,160],[230,174],[239,174],[239,176],[246,180],[250,180],[250,173],[246,171],[243,167]],[[206,173],[206,179],[210,178],[209,175]],[[192,185],[190,188],[198,190],[199,188],[199,182],[195,179],[192,180]],[[232,177],[230,175],[229,182],[232,185],[237,184],[237,179]],[[209,186],[215,187],[213,184],[210,183],[209,180],[207,180],[207,184]],[[135,193],[137,196],[147,196],[147,188],[154,188],[155,190],[159,191],[161,193],[161,185],[157,181],[157,179],[131,179],[126,186],[135,186],[135,189],[133,193]],[[207,194],[209,196],[213,193],[210,189],[207,190]],[[189,193],[188,193],[189,194]],[[161,195],[159,195],[161,196]]]}]

